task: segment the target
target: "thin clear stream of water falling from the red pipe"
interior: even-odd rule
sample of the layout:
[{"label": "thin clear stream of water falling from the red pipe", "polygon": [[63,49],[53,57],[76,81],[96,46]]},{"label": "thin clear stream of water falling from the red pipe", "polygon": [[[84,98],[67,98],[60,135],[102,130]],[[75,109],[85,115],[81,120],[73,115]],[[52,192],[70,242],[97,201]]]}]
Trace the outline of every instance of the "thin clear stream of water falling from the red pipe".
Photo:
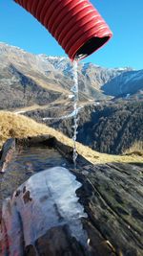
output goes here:
[{"label": "thin clear stream of water falling from the red pipe", "polygon": [[77,128],[78,128],[78,75],[77,75],[77,61],[73,61],[73,86],[72,86],[72,93],[73,93],[73,163],[74,169],[76,169],[76,158],[77,158],[77,150],[76,150],[76,137],[77,137]]}]

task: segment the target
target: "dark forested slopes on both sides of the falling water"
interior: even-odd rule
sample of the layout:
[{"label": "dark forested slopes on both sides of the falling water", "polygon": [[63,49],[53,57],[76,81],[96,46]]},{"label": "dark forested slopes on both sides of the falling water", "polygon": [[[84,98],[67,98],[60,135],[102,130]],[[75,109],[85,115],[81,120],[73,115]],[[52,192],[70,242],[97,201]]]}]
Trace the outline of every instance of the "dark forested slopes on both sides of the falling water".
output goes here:
[{"label": "dark forested slopes on both sides of the falling water", "polygon": [[[42,121],[42,111],[27,113]],[[47,125],[72,137],[72,118],[47,120]],[[80,109],[77,140],[93,150],[122,153],[134,143],[143,141],[143,102],[121,102],[107,105],[87,105]]]}]

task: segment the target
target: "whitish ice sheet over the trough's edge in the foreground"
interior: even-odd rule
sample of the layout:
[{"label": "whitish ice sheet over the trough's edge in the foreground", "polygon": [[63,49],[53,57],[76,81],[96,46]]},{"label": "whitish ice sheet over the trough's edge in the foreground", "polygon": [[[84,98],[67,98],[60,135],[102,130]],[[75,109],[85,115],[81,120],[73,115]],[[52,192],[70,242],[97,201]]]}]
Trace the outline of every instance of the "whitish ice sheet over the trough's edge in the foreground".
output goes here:
[{"label": "whitish ice sheet over the trough's edge in the foreground", "polygon": [[32,175],[21,185],[3,205],[10,255],[20,250],[22,238],[25,245],[34,244],[52,227],[64,224],[72,237],[86,245],[88,238],[80,219],[87,214],[75,194],[80,187],[76,177],[62,167]]}]

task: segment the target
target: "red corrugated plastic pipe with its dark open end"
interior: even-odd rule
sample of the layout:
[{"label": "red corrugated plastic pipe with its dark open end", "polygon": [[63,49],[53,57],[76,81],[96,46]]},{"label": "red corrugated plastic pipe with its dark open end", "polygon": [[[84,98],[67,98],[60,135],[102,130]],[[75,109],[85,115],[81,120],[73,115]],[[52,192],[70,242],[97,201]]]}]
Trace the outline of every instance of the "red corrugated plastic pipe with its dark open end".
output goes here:
[{"label": "red corrugated plastic pipe with its dark open end", "polygon": [[37,18],[69,58],[81,59],[102,47],[112,32],[88,0],[14,0]]}]

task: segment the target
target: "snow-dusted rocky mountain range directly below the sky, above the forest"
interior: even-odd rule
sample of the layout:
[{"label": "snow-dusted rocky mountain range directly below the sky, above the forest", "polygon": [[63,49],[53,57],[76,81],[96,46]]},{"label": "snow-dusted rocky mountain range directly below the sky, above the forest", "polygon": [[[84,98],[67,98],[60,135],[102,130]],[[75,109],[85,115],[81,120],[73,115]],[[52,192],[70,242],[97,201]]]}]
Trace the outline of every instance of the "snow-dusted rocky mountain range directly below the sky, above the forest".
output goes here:
[{"label": "snow-dusted rocky mountain range directly below the sky, above the forest", "polygon": [[[143,91],[143,70],[104,68],[80,62],[78,80],[81,102],[130,98],[142,95]],[[66,101],[72,84],[69,58],[33,55],[0,43],[0,108],[47,105],[57,99]],[[6,99],[7,105],[2,104]]]}]

